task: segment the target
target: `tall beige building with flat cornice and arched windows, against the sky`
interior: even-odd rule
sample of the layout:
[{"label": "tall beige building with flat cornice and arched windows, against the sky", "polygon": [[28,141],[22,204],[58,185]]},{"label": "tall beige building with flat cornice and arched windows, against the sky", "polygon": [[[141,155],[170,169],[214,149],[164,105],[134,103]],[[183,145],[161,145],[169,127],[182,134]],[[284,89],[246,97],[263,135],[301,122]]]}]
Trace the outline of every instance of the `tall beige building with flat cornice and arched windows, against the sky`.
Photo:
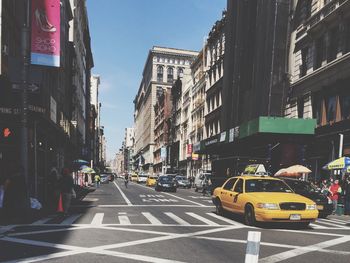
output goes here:
[{"label": "tall beige building with flat cornice and arched windows, against the sky", "polygon": [[153,173],[157,89],[169,89],[178,76],[190,74],[190,64],[197,54],[166,47],[153,47],[149,51],[134,100],[135,164],[141,164],[146,172]]}]

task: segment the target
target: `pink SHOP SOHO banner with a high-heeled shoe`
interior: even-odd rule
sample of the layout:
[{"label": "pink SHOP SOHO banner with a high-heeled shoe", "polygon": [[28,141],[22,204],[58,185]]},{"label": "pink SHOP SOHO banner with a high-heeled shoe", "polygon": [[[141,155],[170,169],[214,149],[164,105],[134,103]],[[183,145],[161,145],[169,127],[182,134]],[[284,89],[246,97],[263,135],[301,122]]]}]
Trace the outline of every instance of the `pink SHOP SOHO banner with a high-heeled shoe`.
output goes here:
[{"label": "pink SHOP SOHO banner with a high-heeled shoe", "polygon": [[32,64],[60,66],[60,13],[60,0],[32,0]]}]

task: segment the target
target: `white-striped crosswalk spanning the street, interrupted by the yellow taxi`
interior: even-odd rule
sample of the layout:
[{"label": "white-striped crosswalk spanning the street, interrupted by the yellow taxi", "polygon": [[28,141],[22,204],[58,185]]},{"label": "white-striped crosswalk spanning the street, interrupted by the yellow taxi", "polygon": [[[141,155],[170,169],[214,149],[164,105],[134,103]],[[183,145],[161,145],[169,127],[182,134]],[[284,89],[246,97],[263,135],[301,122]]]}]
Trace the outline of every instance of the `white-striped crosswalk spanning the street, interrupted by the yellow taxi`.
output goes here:
[{"label": "white-striped crosswalk spanning the street, interrupted by the yellow taxi", "polygon": [[[151,225],[151,226],[244,226],[241,220],[219,216],[213,212],[115,212],[95,214],[73,214],[68,217],[52,216],[33,222],[32,225]],[[336,218],[318,219],[310,224],[313,229],[350,229],[350,220]]]}]

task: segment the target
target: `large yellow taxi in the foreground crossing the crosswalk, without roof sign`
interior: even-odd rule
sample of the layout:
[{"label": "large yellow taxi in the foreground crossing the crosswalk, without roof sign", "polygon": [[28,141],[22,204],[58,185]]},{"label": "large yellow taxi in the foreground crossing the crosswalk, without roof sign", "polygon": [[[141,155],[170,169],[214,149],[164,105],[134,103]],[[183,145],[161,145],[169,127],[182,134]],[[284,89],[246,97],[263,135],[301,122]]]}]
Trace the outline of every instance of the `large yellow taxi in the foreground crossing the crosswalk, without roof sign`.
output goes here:
[{"label": "large yellow taxi in the foreground crossing the crosswalk, without roof sign", "polygon": [[217,187],[212,196],[217,214],[224,210],[244,216],[247,225],[257,222],[298,222],[307,226],[318,217],[315,202],[295,194],[274,177],[237,176]]}]

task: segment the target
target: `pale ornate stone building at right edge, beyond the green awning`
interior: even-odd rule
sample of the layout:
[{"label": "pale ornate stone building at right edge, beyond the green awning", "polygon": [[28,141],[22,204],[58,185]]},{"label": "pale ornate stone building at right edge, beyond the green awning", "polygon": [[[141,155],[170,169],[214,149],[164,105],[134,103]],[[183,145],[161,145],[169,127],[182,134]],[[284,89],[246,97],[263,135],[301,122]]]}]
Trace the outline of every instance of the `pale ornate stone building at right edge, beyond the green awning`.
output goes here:
[{"label": "pale ornate stone building at right edge, beyond the green awning", "polygon": [[293,1],[292,14],[285,116],[316,119],[306,159],[319,177],[350,156],[350,1]]}]

